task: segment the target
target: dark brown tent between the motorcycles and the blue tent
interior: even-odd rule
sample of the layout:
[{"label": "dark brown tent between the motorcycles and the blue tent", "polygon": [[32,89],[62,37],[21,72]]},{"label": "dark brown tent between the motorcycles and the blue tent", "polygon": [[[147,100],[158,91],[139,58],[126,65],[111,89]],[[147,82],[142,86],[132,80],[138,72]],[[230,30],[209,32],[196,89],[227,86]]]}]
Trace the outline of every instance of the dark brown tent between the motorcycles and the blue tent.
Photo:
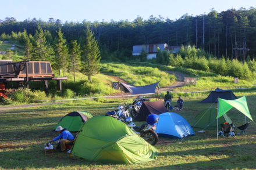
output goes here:
[{"label": "dark brown tent between the motorcycles and the blue tent", "polygon": [[134,120],[146,121],[146,118],[150,114],[159,115],[166,112],[168,112],[168,110],[161,100],[155,102],[143,102],[140,107],[140,111],[138,111],[138,114],[136,117],[134,117]]}]

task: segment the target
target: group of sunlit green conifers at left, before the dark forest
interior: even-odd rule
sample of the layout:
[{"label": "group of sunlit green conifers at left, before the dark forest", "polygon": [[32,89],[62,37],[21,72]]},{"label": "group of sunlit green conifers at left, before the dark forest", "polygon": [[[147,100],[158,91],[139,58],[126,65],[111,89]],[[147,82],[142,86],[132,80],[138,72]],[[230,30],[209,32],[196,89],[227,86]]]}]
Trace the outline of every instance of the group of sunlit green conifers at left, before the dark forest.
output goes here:
[{"label": "group of sunlit green conifers at left, before the dark forest", "polygon": [[35,30],[34,36],[28,35],[26,29],[18,34],[13,31],[11,35],[3,33],[1,39],[19,42],[24,45],[24,55],[18,57],[13,55],[12,50],[8,49],[7,55],[3,55],[2,59],[12,60],[13,62],[19,62],[20,60],[49,61],[53,68],[59,70],[59,75],[61,75],[61,70],[64,75],[68,70],[73,73],[75,81],[74,73],[80,71],[88,75],[88,80],[91,81],[91,75],[96,74],[99,70],[101,56],[93,32],[89,28],[84,32],[86,37],[81,39],[80,44],[77,43],[77,40],[72,40],[69,46],[67,46],[61,28],[56,31],[54,39],[48,30],[42,30],[40,26]]}]

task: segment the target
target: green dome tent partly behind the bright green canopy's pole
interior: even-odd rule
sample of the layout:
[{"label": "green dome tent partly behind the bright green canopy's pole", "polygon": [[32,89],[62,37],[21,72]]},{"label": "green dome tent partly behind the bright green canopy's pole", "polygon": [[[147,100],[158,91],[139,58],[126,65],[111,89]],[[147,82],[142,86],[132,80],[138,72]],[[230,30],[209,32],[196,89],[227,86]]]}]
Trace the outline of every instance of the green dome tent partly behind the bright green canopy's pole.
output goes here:
[{"label": "green dome tent partly behind the bright green canopy's pole", "polygon": [[[194,118],[194,120],[191,122],[190,125],[193,128],[216,129],[217,115],[218,115],[218,108],[215,108],[215,107],[205,108],[204,110],[202,110],[200,113],[196,115],[196,117]],[[223,114],[223,116],[219,118],[219,122],[218,122],[219,128],[221,128],[220,125],[223,124],[224,122],[229,122],[230,124],[232,122],[226,114]]]}]

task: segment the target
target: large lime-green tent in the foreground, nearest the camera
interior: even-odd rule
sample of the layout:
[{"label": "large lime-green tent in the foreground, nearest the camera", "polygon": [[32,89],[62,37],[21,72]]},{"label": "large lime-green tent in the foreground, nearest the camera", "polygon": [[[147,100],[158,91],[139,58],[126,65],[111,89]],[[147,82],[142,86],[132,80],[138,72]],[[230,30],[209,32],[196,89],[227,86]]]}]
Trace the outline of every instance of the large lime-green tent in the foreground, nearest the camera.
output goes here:
[{"label": "large lime-green tent in the foreground, nearest the camera", "polygon": [[157,159],[158,150],[123,122],[105,116],[83,125],[70,154],[90,161],[136,164]]}]

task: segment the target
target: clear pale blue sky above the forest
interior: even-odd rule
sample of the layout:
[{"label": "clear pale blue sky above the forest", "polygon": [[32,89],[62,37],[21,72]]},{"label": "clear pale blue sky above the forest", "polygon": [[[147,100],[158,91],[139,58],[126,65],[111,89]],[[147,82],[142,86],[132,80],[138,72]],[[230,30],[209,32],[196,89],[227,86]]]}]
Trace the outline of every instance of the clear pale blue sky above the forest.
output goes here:
[{"label": "clear pale blue sky above the forest", "polygon": [[15,17],[17,21],[33,19],[48,21],[49,18],[65,21],[106,22],[129,20],[137,16],[144,20],[153,15],[164,19],[179,19],[182,15],[197,16],[208,14],[212,8],[217,12],[227,9],[256,8],[255,0],[1,0],[0,20]]}]

